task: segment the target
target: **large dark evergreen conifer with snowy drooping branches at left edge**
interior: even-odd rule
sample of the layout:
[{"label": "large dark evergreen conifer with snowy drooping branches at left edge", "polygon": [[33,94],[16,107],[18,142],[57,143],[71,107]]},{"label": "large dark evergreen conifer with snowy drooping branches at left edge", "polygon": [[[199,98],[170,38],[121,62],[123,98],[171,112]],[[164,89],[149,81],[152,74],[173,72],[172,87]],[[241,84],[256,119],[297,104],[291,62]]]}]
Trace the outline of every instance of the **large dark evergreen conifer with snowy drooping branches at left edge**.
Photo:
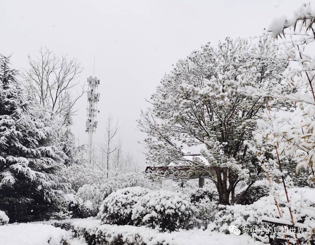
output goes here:
[{"label": "large dark evergreen conifer with snowy drooping branches at left edge", "polygon": [[39,220],[63,196],[65,154],[51,114],[22,92],[8,57],[0,57],[0,209],[10,222]]}]

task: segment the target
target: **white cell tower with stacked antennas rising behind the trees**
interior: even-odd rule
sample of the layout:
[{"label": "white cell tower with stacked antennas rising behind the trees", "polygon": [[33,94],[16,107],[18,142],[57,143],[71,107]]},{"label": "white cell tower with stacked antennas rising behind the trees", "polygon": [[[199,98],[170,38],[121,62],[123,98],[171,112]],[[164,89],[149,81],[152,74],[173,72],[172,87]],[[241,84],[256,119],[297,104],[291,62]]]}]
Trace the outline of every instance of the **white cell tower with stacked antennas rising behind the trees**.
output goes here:
[{"label": "white cell tower with stacked antennas rising behind the trees", "polygon": [[100,100],[100,93],[97,93],[97,87],[100,84],[100,79],[97,77],[92,78],[92,76],[88,77],[88,108],[87,108],[87,121],[86,121],[86,130],[89,134],[89,146],[90,150],[92,148],[93,142],[93,132],[95,132],[97,127],[96,112],[100,112],[97,110],[97,102]]}]

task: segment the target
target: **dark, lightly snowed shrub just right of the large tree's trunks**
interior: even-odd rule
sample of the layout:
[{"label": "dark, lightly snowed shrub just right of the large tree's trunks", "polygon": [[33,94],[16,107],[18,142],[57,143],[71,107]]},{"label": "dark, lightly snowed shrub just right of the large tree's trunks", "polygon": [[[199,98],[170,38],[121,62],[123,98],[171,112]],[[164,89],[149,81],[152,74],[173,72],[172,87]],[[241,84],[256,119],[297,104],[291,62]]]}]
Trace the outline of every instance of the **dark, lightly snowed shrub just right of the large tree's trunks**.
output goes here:
[{"label": "dark, lightly snowed shrub just right of the large tree's trunks", "polygon": [[[245,190],[243,190],[243,192],[245,192]],[[243,192],[237,194],[235,196],[235,200],[238,200],[238,198],[240,198],[238,204],[247,205],[258,201],[262,197],[268,196],[270,192],[270,187],[269,185],[267,186],[264,184],[255,185],[251,186],[244,194]]]}]

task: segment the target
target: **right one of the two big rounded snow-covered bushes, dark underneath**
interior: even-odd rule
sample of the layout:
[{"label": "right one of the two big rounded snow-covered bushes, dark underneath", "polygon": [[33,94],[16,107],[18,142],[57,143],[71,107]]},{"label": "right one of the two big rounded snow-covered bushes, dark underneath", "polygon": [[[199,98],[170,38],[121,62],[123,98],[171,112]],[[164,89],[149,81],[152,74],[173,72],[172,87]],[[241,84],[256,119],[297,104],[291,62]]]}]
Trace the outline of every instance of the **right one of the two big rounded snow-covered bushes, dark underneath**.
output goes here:
[{"label": "right one of the two big rounded snow-covered bushes, dark underneath", "polygon": [[132,220],[137,226],[159,231],[177,231],[188,227],[193,205],[186,195],[158,190],[141,197],[132,210]]}]

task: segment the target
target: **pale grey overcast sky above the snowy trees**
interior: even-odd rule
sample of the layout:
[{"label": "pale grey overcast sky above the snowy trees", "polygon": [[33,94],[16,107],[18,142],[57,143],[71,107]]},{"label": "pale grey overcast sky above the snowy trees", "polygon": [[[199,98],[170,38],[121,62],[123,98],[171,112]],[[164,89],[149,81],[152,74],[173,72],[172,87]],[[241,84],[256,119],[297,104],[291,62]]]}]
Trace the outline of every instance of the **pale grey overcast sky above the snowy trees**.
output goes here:
[{"label": "pale grey overcast sky above the snowy trees", "polygon": [[[27,68],[27,54],[40,46],[76,57],[84,70],[80,80],[100,77],[101,93],[94,139],[103,138],[108,113],[119,118],[124,149],[145,164],[145,135],[136,131],[140,109],[148,105],[161,77],[172,64],[201,45],[226,36],[260,35],[276,16],[291,16],[300,0],[275,1],[14,1],[0,0],[0,53],[13,54],[14,68]],[[87,97],[77,103],[73,132],[85,133]]]}]

